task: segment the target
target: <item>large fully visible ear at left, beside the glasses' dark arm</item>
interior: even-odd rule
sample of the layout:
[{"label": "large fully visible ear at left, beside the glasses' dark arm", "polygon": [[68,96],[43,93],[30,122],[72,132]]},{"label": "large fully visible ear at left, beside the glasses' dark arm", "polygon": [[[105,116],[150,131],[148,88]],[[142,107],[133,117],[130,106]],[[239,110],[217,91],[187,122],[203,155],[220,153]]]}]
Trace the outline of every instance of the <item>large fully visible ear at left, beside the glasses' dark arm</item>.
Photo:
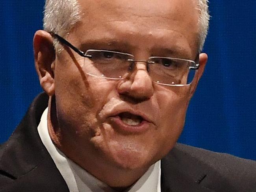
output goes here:
[{"label": "large fully visible ear at left, beside the glasses' dark arm", "polygon": [[55,50],[50,33],[39,30],[33,39],[35,69],[39,76],[40,85],[49,95],[54,95],[54,62]]}]

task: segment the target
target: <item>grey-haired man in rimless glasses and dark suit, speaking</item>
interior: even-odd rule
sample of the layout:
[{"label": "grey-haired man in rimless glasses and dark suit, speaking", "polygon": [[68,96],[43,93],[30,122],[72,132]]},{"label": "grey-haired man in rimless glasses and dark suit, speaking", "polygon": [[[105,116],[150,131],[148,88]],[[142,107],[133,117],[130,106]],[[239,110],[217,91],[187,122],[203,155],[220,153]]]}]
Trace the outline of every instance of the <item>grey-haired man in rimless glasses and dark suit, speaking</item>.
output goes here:
[{"label": "grey-haired man in rimless glasses and dark suit, speaking", "polygon": [[176,144],[208,20],[206,0],[46,0],[48,96],[1,146],[0,191],[255,191],[254,161]]}]

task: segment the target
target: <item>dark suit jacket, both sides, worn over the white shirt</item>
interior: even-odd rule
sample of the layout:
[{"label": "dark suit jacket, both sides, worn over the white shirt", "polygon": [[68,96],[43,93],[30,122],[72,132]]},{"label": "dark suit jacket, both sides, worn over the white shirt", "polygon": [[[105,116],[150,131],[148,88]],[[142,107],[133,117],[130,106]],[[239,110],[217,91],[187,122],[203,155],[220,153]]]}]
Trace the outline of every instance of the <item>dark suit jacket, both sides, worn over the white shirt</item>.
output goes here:
[{"label": "dark suit jacket, both sides, worn over the white shirt", "polygon": [[[46,94],[31,104],[0,146],[0,192],[67,192],[37,132]],[[161,160],[162,192],[256,192],[256,162],[176,144]]]}]

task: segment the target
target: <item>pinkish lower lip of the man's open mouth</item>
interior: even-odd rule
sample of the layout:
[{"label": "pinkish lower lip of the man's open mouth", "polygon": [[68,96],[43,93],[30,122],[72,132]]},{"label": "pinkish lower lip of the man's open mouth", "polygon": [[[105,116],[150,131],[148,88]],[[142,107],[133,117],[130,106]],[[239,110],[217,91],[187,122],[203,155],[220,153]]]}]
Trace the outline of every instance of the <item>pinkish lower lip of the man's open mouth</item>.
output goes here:
[{"label": "pinkish lower lip of the man's open mouth", "polygon": [[149,129],[149,122],[143,120],[140,124],[131,126],[124,123],[119,116],[111,117],[114,129],[117,128],[124,133],[143,133]]}]

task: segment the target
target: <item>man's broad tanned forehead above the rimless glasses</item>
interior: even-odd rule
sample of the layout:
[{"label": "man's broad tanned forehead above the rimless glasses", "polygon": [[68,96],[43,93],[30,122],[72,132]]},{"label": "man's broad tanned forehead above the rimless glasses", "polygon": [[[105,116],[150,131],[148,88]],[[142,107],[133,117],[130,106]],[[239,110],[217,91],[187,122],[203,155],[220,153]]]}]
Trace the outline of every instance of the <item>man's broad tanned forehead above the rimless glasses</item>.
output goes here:
[{"label": "man's broad tanned forehead above the rimless glasses", "polygon": [[[128,41],[134,46],[195,48],[198,11],[194,0],[79,0],[83,41]],[[78,35],[79,34],[79,35]]]}]

